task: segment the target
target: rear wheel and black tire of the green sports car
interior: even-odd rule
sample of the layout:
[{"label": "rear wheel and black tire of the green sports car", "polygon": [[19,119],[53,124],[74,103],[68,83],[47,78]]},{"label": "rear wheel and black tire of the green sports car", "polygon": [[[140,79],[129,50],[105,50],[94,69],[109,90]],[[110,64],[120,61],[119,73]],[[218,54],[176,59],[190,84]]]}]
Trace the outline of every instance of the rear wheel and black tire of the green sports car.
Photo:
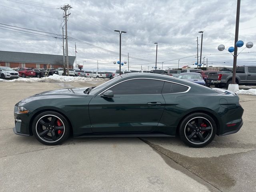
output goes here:
[{"label": "rear wheel and black tire of the green sports car", "polygon": [[199,148],[212,142],[216,129],[216,123],[209,115],[193,113],[182,120],[179,135],[186,145]]}]

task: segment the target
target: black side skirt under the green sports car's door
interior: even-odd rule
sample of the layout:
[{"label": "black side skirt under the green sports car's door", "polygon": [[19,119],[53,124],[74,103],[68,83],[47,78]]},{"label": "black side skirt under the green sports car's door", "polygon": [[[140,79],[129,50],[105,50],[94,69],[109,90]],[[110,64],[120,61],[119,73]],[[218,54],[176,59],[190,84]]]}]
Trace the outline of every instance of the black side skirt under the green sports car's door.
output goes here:
[{"label": "black side skirt under the green sports car's door", "polygon": [[166,135],[161,133],[120,133],[120,134],[84,134],[78,137],[175,137],[173,135]]}]

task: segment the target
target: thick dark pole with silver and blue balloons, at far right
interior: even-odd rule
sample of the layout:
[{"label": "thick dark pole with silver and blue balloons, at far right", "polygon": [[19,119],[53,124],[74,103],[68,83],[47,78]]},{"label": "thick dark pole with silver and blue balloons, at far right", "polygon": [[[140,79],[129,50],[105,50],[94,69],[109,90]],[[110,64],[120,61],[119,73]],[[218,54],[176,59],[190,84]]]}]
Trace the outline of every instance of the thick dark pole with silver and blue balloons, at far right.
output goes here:
[{"label": "thick dark pole with silver and blue balloons, at far right", "polygon": [[239,18],[240,18],[240,0],[237,0],[237,7],[236,7],[236,33],[235,33],[235,46],[234,46],[235,50],[234,50],[234,60],[233,60],[232,84],[236,84],[236,60],[237,60],[237,46],[236,46],[236,42],[238,41]]}]

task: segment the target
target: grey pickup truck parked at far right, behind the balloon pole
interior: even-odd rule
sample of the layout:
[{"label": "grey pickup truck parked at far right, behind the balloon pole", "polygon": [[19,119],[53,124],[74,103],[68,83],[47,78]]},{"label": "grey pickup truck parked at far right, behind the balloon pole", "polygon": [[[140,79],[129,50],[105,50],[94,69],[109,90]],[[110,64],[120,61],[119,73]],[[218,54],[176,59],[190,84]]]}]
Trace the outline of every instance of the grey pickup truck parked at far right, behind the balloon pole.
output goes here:
[{"label": "grey pickup truck parked at far right, behind the balloon pole", "polygon": [[[228,88],[232,83],[233,73],[213,72],[208,74],[208,80],[217,88]],[[256,85],[256,66],[237,66],[236,83],[238,85]]]}]

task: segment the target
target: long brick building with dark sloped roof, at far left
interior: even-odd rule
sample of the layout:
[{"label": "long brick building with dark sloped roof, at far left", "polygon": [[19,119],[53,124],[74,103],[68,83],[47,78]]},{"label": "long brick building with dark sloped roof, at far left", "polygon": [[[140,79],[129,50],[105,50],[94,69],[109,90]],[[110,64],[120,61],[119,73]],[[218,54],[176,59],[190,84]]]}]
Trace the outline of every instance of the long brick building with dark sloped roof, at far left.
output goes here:
[{"label": "long brick building with dark sloped roof, at far left", "polygon": [[[68,56],[69,68],[73,68],[75,58],[75,56]],[[0,66],[59,68],[63,67],[63,55],[0,51]]]}]

